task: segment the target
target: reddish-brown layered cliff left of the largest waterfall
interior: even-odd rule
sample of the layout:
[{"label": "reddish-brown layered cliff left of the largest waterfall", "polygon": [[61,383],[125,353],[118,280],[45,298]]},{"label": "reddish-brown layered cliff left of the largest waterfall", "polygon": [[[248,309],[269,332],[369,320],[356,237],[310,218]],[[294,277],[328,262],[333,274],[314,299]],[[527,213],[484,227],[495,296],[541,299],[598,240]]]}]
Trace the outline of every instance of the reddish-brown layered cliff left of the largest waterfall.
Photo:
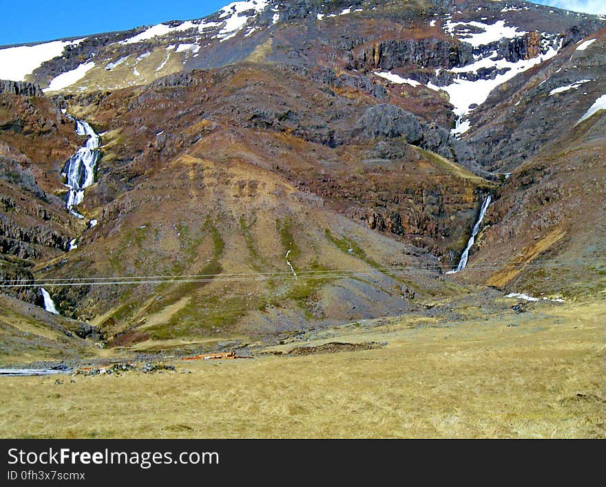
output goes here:
[{"label": "reddish-brown layered cliff left of the largest waterfall", "polygon": [[[36,263],[63,255],[81,231],[54,194],[63,192],[60,169],[77,136],[36,85],[0,86],[0,274],[26,284]],[[30,303],[40,299],[37,288],[6,292]]]}]

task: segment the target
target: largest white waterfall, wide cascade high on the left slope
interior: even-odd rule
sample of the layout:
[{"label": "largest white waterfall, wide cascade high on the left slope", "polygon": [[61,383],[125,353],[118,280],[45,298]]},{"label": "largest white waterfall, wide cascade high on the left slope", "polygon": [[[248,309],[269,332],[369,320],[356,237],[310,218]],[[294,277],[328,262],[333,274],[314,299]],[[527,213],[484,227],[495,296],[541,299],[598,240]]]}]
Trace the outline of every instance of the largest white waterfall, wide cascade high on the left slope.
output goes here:
[{"label": "largest white waterfall, wide cascade high on the left slope", "polygon": [[72,206],[80,204],[84,199],[84,188],[87,188],[93,183],[94,166],[97,162],[99,136],[95,133],[87,122],[76,120],[67,115],[71,120],[76,122],[76,133],[79,136],[89,136],[86,145],[78,149],[72,155],[72,158],[65,162],[61,175],[65,177],[65,186],[70,188],[67,192],[67,200],[65,208],[77,217],[82,217],[79,213],[72,210]]}]

